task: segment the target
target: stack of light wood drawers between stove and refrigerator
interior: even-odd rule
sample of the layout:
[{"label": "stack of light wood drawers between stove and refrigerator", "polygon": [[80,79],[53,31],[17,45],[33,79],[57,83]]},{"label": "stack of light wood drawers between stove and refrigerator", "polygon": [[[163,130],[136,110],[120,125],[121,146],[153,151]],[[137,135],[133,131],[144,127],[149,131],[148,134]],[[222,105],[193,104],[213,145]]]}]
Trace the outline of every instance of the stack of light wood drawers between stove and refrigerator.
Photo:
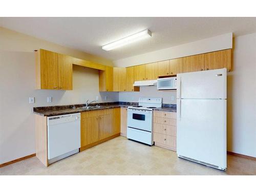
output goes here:
[{"label": "stack of light wood drawers between stove and refrigerator", "polygon": [[153,112],[153,140],[156,146],[176,151],[175,112]]}]

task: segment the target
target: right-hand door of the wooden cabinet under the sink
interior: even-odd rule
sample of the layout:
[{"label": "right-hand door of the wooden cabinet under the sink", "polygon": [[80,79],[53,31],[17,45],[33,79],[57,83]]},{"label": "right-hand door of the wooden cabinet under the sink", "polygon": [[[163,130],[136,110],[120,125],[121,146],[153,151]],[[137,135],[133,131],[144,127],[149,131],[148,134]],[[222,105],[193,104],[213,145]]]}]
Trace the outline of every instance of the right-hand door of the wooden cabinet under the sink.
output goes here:
[{"label": "right-hand door of the wooden cabinet under the sink", "polygon": [[112,124],[111,114],[99,116],[99,140],[113,135]]}]

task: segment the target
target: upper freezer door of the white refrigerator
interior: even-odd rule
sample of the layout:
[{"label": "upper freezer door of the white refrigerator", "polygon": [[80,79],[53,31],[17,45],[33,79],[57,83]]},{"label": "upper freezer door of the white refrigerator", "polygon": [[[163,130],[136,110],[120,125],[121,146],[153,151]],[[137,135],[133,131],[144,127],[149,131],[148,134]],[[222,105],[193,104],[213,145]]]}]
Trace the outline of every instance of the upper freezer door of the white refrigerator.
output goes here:
[{"label": "upper freezer door of the white refrigerator", "polygon": [[226,68],[178,74],[177,98],[226,99],[226,79]]}]

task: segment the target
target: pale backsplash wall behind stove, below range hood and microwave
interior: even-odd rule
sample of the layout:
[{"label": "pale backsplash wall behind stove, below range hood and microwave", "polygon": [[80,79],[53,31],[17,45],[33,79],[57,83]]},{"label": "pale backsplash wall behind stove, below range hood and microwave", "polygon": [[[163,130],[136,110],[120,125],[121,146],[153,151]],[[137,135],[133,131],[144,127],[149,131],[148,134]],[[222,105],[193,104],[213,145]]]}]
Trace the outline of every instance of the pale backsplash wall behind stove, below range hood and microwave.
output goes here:
[{"label": "pale backsplash wall behind stove, below range hood and microwave", "polygon": [[139,97],[162,97],[163,103],[176,104],[175,91],[159,91],[156,86],[140,87],[139,92],[119,92],[119,101],[138,102]]}]

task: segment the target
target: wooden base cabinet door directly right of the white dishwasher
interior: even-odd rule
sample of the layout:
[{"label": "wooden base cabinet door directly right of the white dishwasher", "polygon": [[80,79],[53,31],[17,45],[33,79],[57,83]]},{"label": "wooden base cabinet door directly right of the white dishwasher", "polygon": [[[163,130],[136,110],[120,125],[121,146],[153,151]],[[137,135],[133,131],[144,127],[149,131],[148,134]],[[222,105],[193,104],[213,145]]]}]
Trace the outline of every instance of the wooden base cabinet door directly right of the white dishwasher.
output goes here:
[{"label": "wooden base cabinet door directly right of the white dishwasher", "polygon": [[99,141],[99,117],[81,119],[81,147],[97,141]]}]

